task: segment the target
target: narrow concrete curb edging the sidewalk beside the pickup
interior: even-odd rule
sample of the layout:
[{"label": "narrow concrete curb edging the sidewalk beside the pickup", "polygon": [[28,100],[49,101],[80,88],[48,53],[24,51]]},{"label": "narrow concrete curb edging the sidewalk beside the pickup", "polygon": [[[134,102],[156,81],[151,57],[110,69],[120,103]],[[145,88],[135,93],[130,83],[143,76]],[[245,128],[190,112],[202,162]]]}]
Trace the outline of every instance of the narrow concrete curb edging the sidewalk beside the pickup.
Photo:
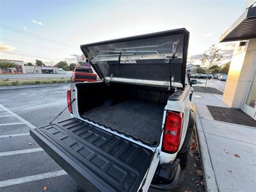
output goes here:
[{"label": "narrow concrete curb edging the sidewalk beside the pickup", "polygon": [[[196,114],[198,117],[198,113]],[[200,149],[200,157],[202,160],[202,170],[204,173],[205,180],[205,191],[207,192],[216,192],[218,190],[218,186],[216,183],[215,173],[212,168],[211,157],[209,155],[207,142],[205,140],[205,134],[202,127],[202,122],[199,118],[196,118],[196,130],[198,135],[198,143]]]}]

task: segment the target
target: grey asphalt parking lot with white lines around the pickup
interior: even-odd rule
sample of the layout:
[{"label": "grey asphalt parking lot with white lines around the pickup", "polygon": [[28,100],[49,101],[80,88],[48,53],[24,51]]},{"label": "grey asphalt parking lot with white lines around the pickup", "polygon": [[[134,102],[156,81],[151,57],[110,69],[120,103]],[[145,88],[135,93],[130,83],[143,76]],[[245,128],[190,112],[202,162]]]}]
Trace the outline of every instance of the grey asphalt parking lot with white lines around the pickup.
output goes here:
[{"label": "grey asphalt parking lot with white lines around the pickup", "polygon": [[[29,136],[67,106],[66,91],[67,84],[0,90],[0,191],[83,191]],[[69,117],[66,110],[57,121]],[[204,191],[197,170],[200,159],[190,153],[173,191]]]}]

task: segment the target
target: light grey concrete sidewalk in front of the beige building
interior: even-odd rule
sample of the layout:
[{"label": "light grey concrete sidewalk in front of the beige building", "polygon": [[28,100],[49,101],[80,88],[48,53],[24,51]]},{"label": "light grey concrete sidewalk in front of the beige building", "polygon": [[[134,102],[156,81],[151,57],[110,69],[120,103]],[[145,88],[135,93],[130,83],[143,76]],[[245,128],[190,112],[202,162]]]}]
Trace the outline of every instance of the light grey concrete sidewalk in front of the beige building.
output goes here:
[{"label": "light grey concrete sidewalk in front of the beige building", "polygon": [[228,108],[221,97],[193,94],[205,189],[256,191],[256,128],[214,120],[207,105]]}]

